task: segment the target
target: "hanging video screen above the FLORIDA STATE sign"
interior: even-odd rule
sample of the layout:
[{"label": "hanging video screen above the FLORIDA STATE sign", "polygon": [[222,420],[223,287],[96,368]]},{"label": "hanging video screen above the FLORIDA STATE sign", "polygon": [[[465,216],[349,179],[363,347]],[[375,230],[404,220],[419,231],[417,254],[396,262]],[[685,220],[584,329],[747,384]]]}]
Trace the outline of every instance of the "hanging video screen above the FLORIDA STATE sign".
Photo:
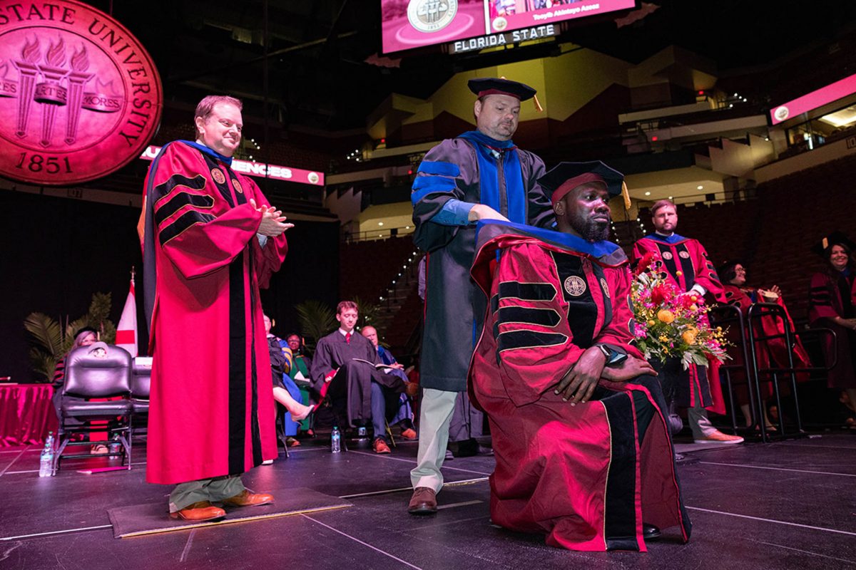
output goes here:
[{"label": "hanging video screen above the FLORIDA STATE sign", "polygon": [[635,0],[381,0],[383,53],[633,8]]}]

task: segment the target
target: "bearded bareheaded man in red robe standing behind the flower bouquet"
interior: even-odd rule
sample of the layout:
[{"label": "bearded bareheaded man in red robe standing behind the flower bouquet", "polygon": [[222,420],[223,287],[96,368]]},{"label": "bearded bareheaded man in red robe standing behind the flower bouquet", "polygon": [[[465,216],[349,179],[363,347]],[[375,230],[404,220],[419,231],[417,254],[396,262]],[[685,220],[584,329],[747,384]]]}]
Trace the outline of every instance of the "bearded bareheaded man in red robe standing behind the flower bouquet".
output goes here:
[{"label": "bearded bareheaded man in red robe standing behind the flower bouquet", "polygon": [[[639,262],[645,254],[661,261],[666,278],[678,291],[704,297],[710,293],[718,301],[724,301],[722,283],[716,268],[708,259],[704,246],[697,239],[685,238],[675,233],[678,226],[678,210],[669,200],[660,200],[651,206],[651,223],[655,232],[633,244],[633,261]],[[719,385],[718,363],[711,362],[710,378],[708,367],[690,364],[684,370],[680,358],[669,358],[660,367],[663,393],[669,404],[687,408],[687,420],[697,444],[740,444],[740,436],[722,433],[710,423],[707,410],[725,413],[722,388]],[[672,414],[676,432],[680,432],[681,418]]]}]

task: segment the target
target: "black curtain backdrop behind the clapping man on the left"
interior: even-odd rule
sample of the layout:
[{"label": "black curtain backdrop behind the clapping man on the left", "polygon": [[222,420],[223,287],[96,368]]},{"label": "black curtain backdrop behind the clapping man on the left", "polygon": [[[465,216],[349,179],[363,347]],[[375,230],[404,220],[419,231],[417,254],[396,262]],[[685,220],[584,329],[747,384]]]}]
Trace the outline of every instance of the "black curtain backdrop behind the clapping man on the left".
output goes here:
[{"label": "black curtain backdrop behind the clapping man on the left", "polygon": [[[34,379],[23,324],[27,314],[74,320],[86,314],[92,293],[101,291],[112,294],[110,318],[118,324],[132,266],[137,270],[140,354],[146,354],[139,216],[140,209],[127,206],[0,192],[0,376]],[[318,299],[335,306],[338,301],[338,224],[297,221],[288,241],[282,269],[262,294],[281,336],[296,330],[294,304]]]}]

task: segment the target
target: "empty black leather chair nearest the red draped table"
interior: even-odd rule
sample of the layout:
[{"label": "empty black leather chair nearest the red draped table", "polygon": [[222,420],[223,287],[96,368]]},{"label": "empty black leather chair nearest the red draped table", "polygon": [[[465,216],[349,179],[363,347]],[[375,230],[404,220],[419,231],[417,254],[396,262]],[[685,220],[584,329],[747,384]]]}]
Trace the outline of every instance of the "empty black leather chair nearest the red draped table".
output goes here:
[{"label": "empty black leather chair nearest the red draped table", "polygon": [[[106,354],[92,354],[98,348],[104,348]],[[70,446],[89,446],[89,442],[72,442],[76,433],[104,432],[113,436],[122,450],[110,452],[108,456],[122,456],[122,465],[131,468],[131,355],[117,346],[98,344],[81,346],[68,353],[66,358],[66,377],[62,387],[59,428],[56,433],[58,447],[54,454],[53,473],[59,470],[62,459],[76,457],[100,457],[93,453],[69,454],[62,452]],[[121,397],[121,399],[92,402],[91,398]],[[84,398],[84,399],[80,399]],[[82,424],[67,422],[69,419],[82,421]],[[93,420],[106,420],[108,425],[92,426]]]}]

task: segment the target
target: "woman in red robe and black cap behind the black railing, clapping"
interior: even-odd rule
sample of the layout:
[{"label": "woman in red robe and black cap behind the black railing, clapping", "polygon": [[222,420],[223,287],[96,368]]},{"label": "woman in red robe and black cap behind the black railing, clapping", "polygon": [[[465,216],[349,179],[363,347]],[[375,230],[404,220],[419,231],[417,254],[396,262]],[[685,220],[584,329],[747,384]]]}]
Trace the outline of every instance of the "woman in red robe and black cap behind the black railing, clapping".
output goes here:
[{"label": "woman in red robe and black cap behind the black railing, clapping", "polygon": [[[794,367],[804,368],[811,366],[808,353],[805,352],[800,338],[794,333],[794,321],[791,319],[787,307],[785,307],[785,302],[782,299],[782,290],[779,289],[778,285],[773,285],[769,290],[746,287],[746,267],[743,267],[740,261],[726,261],[716,270],[716,273],[722,279],[722,286],[725,289],[725,301],[729,305],[740,309],[744,317],[748,314],[749,308],[753,303],[776,303],[782,307],[785,311],[787,326],[794,342],[792,348]],[[771,315],[764,316],[760,320],[760,323],[753,323],[753,326],[758,326],[758,324],[760,325],[759,328],[754,329],[756,338],[784,333],[782,320]],[[749,326],[746,323],[746,334],[748,334],[748,331]],[[739,327],[736,325],[729,328],[728,335],[730,342],[734,344],[734,346],[729,348],[728,356],[732,357],[734,364],[740,366],[740,368],[735,368],[734,372],[731,373],[732,379],[737,381],[736,385],[734,385],[734,393],[737,397],[737,402],[740,404],[740,411],[746,419],[746,427],[752,427],[757,424],[760,428],[760,422],[752,417],[752,407],[749,405],[749,391],[747,389],[749,379],[746,378],[745,368],[743,368],[745,363],[743,361],[742,346],[747,339],[740,339]],[[784,338],[770,338],[765,341],[756,341],[755,354],[759,369],[788,367],[788,347],[785,344]],[[804,376],[807,377],[805,373],[800,374],[799,378],[802,379]],[[770,374],[762,374],[758,377],[758,381],[761,387],[761,398],[764,401],[764,429],[775,432],[776,427],[773,426],[770,418],[767,416],[767,400],[773,396],[773,385]],[[789,393],[788,384],[782,383],[779,388],[782,395]]]}]

